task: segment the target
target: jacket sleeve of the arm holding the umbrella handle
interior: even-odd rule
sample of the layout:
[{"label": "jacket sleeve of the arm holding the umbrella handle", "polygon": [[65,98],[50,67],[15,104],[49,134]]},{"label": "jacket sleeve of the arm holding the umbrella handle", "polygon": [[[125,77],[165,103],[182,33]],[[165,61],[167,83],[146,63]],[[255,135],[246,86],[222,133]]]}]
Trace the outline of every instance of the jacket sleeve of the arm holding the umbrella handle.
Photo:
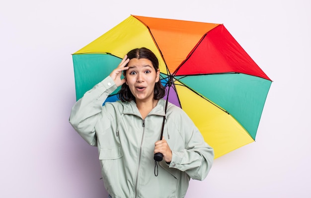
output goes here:
[{"label": "jacket sleeve of the arm holding the umbrella handle", "polygon": [[205,141],[188,115],[182,111],[179,130],[184,133],[185,149],[172,151],[170,168],[186,172],[194,180],[204,180],[213,164],[214,150]]}]

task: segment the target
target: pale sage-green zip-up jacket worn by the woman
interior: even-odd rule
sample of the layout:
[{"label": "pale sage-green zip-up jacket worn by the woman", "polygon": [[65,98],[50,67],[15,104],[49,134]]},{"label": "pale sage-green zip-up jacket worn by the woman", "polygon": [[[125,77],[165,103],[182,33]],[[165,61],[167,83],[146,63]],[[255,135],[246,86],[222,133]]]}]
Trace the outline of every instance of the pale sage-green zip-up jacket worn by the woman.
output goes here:
[{"label": "pale sage-green zip-up jacket worn by the woman", "polygon": [[179,107],[168,103],[163,137],[172,160],[159,162],[154,149],[160,137],[165,100],[142,119],[134,101],[106,102],[117,87],[108,76],[72,108],[70,123],[90,145],[97,146],[104,186],[112,198],[183,198],[190,178],[203,180],[214,151]]}]

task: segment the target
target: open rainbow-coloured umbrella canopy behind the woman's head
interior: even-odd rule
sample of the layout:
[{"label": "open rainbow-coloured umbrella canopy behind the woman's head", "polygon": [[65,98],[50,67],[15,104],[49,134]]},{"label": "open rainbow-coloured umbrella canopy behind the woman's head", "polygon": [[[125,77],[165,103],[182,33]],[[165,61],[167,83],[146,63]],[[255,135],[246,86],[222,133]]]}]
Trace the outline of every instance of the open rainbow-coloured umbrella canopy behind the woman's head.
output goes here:
[{"label": "open rainbow-coloured umbrella canopy behind the woman's head", "polygon": [[223,24],[129,16],[73,54],[77,100],[140,47],[156,54],[161,82],[172,83],[168,100],[189,115],[215,158],[255,140],[272,81]]}]

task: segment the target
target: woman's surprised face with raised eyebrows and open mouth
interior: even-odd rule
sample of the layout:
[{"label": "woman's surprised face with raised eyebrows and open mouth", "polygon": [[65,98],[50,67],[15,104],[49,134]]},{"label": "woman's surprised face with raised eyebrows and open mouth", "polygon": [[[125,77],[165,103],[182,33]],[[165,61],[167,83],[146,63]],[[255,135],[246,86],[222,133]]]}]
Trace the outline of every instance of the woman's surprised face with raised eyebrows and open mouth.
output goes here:
[{"label": "woman's surprised face with raised eyebrows and open mouth", "polygon": [[128,63],[126,71],[126,84],[129,86],[137,101],[154,99],[155,84],[159,81],[160,70],[155,70],[148,59],[133,58]]}]

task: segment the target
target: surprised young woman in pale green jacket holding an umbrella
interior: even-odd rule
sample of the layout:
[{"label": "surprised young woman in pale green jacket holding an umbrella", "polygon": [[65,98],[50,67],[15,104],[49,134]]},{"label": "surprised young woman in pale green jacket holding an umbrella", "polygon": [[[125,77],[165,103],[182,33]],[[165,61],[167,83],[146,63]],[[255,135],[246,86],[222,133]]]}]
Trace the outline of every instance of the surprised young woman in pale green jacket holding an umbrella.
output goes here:
[{"label": "surprised young woman in pale green jacket holding an umbrella", "polygon": [[[211,169],[213,149],[192,120],[169,102],[165,113],[159,74],[152,51],[133,49],[72,108],[70,123],[97,146],[104,186],[112,198],[183,198],[190,178],[203,180]],[[121,101],[102,105],[119,86]],[[155,153],[163,155],[158,169]]]}]

